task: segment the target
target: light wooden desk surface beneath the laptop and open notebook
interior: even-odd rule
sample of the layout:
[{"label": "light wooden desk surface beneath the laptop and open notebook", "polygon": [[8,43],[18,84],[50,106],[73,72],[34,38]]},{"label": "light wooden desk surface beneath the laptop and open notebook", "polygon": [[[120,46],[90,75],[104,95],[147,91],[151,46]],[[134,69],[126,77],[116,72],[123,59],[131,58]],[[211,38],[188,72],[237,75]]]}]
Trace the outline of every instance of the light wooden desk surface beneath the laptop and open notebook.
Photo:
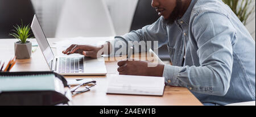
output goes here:
[{"label": "light wooden desk surface beneath the laptop and open notebook", "polygon": [[[14,42],[15,39],[0,39],[0,61],[9,61],[14,57]],[[31,39],[30,41],[35,41]],[[48,39],[50,45],[58,39]],[[53,51],[54,52],[54,51]],[[143,53],[142,53],[143,54]],[[134,55],[139,56],[139,55]],[[125,58],[125,57],[123,57]],[[106,76],[65,76],[65,78],[93,78],[97,81],[97,85],[92,87],[89,92],[73,96],[73,105],[150,105],[150,106],[172,106],[172,105],[198,105],[202,103],[184,87],[166,86],[163,97],[141,96],[141,95],[117,95],[106,94],[108,80],[117,72],[117,61],[109,61],[105,58],[105,64],[108,74]],[[11,72],[24,71],[48,71],[48,66],[42,52],[38,48],[30,59],[18,60],[17,64]]]}]

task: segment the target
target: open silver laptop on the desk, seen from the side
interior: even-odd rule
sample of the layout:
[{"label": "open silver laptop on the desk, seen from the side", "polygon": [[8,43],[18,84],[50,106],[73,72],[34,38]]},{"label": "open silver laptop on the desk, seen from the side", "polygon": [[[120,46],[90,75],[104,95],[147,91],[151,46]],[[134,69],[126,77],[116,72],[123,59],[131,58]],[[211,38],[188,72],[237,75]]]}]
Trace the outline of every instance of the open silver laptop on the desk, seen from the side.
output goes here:
[{"label": "open silver laptop on the desk, seen from the side", "polygon": [[56,72],[64,76],[106,74],[105,60],[103,57],[88,58],[77,56],[54,56],[36,15],[33,18],[31,29],[36,41],[38,41],[38,45],[46,59],[49,69],[52,72]]}]

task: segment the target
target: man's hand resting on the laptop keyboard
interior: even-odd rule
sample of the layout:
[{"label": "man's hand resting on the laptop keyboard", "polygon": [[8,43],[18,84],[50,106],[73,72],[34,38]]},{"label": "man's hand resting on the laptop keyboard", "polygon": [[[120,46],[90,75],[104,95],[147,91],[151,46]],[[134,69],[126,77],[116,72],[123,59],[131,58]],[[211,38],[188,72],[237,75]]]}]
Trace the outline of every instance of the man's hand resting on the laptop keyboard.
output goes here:
[{"label": "man's hand resting on the laptop keyboard", "polygon": [[103,45],[101,47],[94,47],[92,45],[76,45],[72,44],[68,47],[64,54],[71,55],[73,53],[79,53],[80,55],[84,55],[86,57],[98,58],[101,57]]}]

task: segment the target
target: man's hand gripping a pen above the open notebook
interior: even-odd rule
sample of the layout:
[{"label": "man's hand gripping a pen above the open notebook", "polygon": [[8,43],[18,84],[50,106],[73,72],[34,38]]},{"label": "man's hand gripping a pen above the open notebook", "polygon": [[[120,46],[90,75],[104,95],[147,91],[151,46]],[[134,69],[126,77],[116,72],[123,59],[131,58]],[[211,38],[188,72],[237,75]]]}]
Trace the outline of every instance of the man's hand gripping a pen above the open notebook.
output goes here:
[{"label": "man's hand gripping a pen above the open notebook", "polygon": [[155,65],[156,67],[148,67],[149,63],[147,61],[123,60],[118,62],[119,68],[117,70],[121,75],[162,77],[164,65],[158,64]]}]

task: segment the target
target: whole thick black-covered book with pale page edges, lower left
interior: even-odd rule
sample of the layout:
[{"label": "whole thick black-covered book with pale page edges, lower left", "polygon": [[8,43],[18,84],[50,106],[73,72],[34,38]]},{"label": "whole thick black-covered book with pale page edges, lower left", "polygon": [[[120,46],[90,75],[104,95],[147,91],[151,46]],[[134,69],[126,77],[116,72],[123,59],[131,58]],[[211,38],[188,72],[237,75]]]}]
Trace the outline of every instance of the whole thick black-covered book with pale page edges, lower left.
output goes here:
[{"label": "whole thick black-covered book with pale page edges, lower left", "polygon": [[53,72],[1,72],[0,106],[64,105],[72,95],[63,76]]}]

